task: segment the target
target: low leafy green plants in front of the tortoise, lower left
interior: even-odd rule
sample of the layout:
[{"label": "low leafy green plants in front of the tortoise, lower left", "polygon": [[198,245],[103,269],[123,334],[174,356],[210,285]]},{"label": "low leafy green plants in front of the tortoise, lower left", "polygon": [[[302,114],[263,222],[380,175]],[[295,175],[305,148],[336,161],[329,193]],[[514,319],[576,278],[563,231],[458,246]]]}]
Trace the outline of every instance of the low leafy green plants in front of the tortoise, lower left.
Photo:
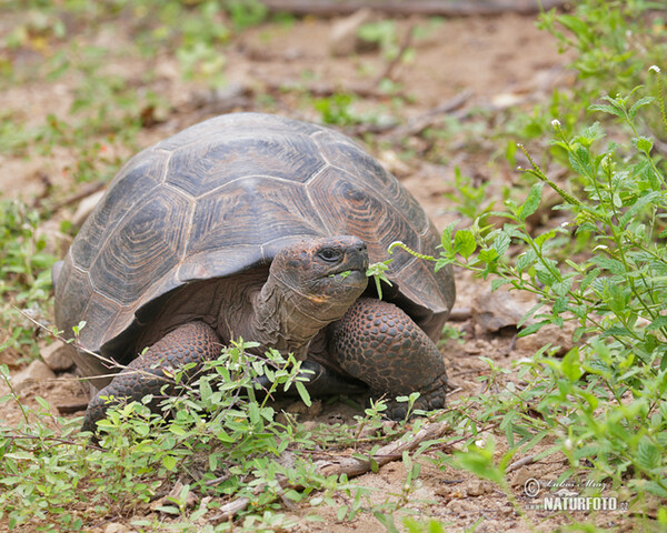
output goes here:
[{"label": "low leafy green plants in front of the tortoise, lower left", "polygon": [[[312,443],[308,434],[277,423],[267,404],[278,386],[303,393],[298,364],[277,352],[260,360],[246,351],[251,346],[237,343],[211,362],[187,394],[165,403],[170,416],[152,414],[137,402],[110,409],[99,422],[99,446],[76,432],[80,420],[50,415],[42,400],[34,413],[13,392],[0,399],[19,402],[24,414],[18,428],[0,425],[0,517],[7,516],[12,527],[33,521],[81,529],[91,513],[131,513],[177,477],[188,481],[160,510],[192,522],[229,497],[248,497],[257,521],[279,497],[307,496],[322,476],[313,474],[308,460],[288,465],[279,459],[288,449]],[[9,383],[7,368],[0,371]],[[261,376],[270,385],[259,401]],[[183,503],[189,492],[212,503],[190,513]]]}]

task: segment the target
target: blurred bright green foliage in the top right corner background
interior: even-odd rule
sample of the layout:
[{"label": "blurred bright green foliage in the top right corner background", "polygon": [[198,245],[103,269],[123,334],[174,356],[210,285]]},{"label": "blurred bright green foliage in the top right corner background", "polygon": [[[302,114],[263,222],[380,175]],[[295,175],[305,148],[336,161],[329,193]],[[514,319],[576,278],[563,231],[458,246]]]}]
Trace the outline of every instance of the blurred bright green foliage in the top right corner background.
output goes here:
[{"label": "blurred bright green foliage in the top right corner background", "polygon": [[[659,2],[647,0],[585,0],[566,13],[555,9],[541,13],[538,27],[558,40],[561,52],[574,52],[568,69],[576,72],[577,82],[568,90],[554,91],[547,105],[537,105],[508,129],[535,139],[548,134],[549,122],[558,118],[570,134],[586,114],[588,102],[653,83],[646,72],[667,52],[660,38],[665,24],[655,16],[660,8]],[[646,119],[659,135],[659,121]]]}]

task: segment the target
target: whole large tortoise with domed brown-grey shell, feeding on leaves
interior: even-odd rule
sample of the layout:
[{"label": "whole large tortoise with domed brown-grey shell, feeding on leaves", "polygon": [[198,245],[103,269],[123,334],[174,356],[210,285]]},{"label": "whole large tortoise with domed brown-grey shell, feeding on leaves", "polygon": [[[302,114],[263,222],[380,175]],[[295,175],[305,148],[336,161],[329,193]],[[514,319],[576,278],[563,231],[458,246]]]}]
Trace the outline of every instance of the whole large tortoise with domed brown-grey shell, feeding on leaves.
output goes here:
[{"label": "whole large tortoise with domed brown-grey shell, feeding on leaves", "polygon": [[[238,338],[303,361],[310,394],[418,391],[417,406],[441,408],[451,269],[389,255],[397,240],[420,253],[440,242],[396,178],[331,129],[230,113],[143,150],[53,269],[57,326],[86,322],[71,348],[93,395],[83,428],[109,399],[159,394],[175,366]],[[390,258],[379,300],[366,270]],[[388,414],[405,406],[389,400]]]}]

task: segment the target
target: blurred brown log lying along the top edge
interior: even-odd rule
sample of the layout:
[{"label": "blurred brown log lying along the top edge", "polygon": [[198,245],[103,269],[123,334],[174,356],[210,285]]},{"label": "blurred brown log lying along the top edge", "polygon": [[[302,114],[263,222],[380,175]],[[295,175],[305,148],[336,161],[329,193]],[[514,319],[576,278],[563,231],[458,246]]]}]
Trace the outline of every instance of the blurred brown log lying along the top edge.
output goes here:
[{"label": "blurred brown log lying along the top edge", "polygon": [[490,16],[506,12],[531,14],[565,6],[565,0],[263,0],[270,12],[289,12],[297,17],[335,17],[371,9],[389,16],[426,17]]}]

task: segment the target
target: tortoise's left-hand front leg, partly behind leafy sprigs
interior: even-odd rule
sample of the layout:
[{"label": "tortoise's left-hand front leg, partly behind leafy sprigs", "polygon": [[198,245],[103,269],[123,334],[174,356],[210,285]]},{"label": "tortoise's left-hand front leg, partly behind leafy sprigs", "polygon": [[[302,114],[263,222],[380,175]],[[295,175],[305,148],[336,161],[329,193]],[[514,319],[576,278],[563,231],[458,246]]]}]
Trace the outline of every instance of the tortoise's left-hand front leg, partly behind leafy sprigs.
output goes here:
[{"label": "tortoise's left-hand front leg, partly behind leafy sprigs", "polygon": [[90,401],[82,430],[96,432],[97,421],[120,400],[141,401],[147,394],[158,396],[162,391],[173,394],[176,371],[195,363],[197,366],[188,371],[191,378],[201,369],[201,363],[218,358],[220,350],[218,335],[203,322],[189,322],[173,330],[128,364]]}]

